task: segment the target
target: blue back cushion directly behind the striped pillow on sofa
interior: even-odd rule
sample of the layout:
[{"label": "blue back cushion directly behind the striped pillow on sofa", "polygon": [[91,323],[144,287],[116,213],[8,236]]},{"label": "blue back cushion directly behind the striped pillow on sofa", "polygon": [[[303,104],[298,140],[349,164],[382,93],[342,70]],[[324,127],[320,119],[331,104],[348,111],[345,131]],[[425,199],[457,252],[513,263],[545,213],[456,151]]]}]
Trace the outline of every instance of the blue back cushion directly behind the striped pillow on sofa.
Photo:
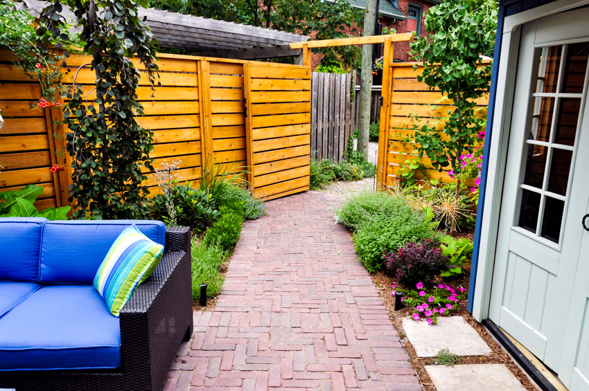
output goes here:
[{"label": "blue back cushion directly behind the striped pillow on sofa", "polygon": [[92,284],[110,246],[135,224],[154,242],[166,244],[166,226],[150,220],[49,221],[43,228],[40,282]]}]

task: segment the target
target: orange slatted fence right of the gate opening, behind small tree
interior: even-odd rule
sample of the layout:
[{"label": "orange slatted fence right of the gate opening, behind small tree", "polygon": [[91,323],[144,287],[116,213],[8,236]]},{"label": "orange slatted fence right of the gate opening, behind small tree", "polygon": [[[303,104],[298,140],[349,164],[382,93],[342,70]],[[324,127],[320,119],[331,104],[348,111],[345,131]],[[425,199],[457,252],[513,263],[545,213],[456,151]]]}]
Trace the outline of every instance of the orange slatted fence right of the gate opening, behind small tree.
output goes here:
[{"label": "orange slatted fence right of the gate opening, behind small tree", "polygon": [[[488,62],[487,62],[488,63]],[[379,183],[392,185],[401,177],[401,169],[407,165],[405,161],[411,160],[416,155],[413,145],[403,144],[401,138],[413,132],[413,124],[436,124],[437,129],[442,129],[444,120],[448,116],[448,110],[455,109],[450,100],[442,100],[443,94],[439,90],[430,91],[427,84],[417,81],[417,75],[421,74],[423,67],[413,69],[415,63],[389,63],[389,78],[383,78],[383,107],[380,113],[380,135],[378,144],[378,173]],[[486,117],[486,106],[489,97],[484,96],[477,102],[477,107],[482,109],[479,116]],[[387,109],[385,109],[387,107]],[[419,122],[414,122],[411,115],[419,117]],[[428,179],[439,179],[443,182],[454,181],[448,176],[447,171],[435,170],[428,157],[421,158],[420,163],[426,167],[425,174]],[[417,172],[416,179],[424,179],[421,172]]]}]

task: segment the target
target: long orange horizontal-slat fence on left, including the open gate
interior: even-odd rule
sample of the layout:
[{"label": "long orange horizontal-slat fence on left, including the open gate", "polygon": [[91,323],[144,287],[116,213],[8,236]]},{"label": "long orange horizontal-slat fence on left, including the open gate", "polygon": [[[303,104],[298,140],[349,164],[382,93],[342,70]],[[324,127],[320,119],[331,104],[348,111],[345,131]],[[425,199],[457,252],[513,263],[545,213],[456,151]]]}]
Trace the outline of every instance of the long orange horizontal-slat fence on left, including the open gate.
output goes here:
[{"label": "long orange horizontal-slat fence on left, including the open gate", "polygon": [[[67,205],[71,172],[50,170],[64,159],[55,156],[64,149],[67,131],[55,125],[61,111],[35,105],[39,84],[13,60],[0,51],[0,109],[6,120],[0,129],[0,190],[38,184],[44,188],[38,208]],[[89,62],[71,56],[63,82],[71,84],[78,67]],[[164,159],[181,160],[182,181],[198,181],[203,161],[234,163],[247,170],[254,194],[264,199],[308,189],[309,66],[168,54],[160,54],[157,64],[161,87],[152,91],[143,80],[137,90],[146,114],[137,120],[154,131],[154,167]],[[76,78],[88,93],[95,80],[89,66]],[[151,173],[143,172],[150,190],[157,191]]]}]

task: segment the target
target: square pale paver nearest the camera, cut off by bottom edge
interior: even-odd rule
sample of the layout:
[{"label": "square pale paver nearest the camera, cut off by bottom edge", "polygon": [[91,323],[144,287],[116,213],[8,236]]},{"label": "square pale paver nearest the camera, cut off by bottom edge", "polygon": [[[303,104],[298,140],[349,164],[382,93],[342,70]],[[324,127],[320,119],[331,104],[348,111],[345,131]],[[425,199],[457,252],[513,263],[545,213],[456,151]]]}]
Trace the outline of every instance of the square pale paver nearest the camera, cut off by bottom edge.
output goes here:
[{"label": "square pale paver nearest the camera, cut off by bottom edge", "polygon": [[503,364],[425,365],[438,391],[524,391]]}]

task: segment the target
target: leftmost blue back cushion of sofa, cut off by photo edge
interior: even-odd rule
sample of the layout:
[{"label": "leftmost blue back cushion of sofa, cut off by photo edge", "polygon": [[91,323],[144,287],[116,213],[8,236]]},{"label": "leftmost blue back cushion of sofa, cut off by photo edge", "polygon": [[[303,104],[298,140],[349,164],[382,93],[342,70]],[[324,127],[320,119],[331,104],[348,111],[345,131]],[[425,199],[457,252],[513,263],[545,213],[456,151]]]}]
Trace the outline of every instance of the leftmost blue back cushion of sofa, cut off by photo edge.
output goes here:
[{"label": "leftmost blue back cushion of sofa, cut off by photo edge", "polygon": [[0,217],[0,280],[39,280],[41,231],[47,219]]}]

